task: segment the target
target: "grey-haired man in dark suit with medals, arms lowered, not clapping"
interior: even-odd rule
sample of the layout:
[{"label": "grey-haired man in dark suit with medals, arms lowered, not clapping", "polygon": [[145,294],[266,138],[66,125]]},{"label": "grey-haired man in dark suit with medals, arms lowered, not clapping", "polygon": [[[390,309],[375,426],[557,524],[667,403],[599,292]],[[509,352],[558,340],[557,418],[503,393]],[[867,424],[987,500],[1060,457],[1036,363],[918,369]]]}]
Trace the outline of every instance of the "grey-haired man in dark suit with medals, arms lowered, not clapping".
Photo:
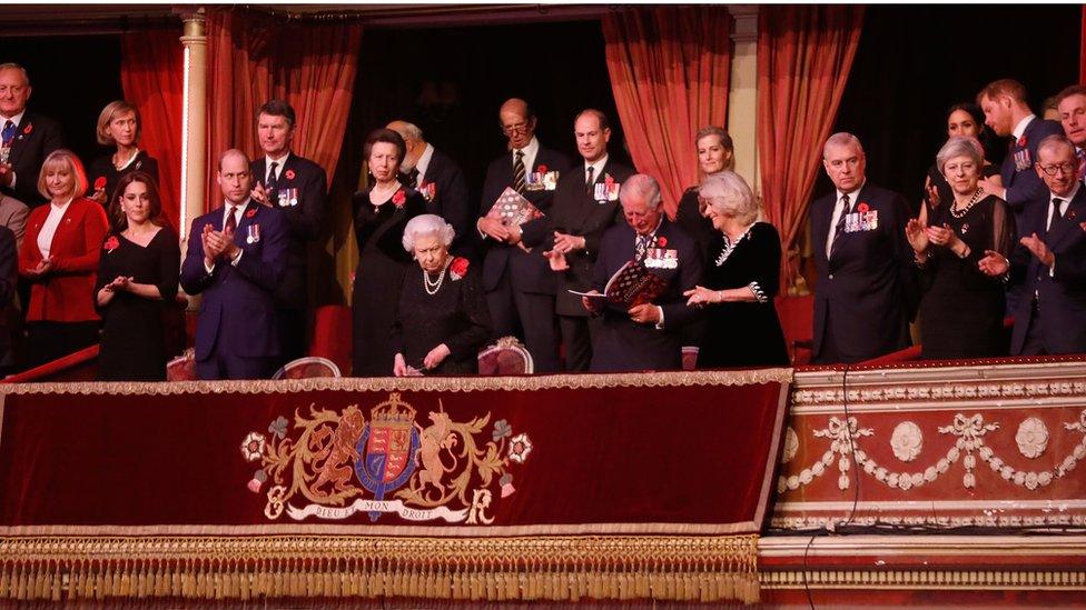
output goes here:
[{"label": "grey-haired man in dark suit with medals, arms lowered, not clapping", "polygon": [[908,206],[867,182],[863,147],[835,133],[822,166],[837,187],[811,203],[814,247],[813,362],[859,362],[909,346],[916,301]]}]

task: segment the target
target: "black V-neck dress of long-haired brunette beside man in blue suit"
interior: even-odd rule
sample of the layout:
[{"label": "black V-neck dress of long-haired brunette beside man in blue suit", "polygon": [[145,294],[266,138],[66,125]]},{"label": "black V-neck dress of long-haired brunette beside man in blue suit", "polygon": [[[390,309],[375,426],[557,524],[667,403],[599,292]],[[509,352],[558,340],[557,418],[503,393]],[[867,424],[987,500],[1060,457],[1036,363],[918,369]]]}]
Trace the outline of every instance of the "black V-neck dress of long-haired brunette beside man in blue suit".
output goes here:
[{"label": "black V-neck dress of long-haired brunette beside man in blue suit", "polygon": [[165,381],[165,313],[177,298],[181,251],[177,233],[161,228],[146,247],[125,239],[120,233],[106,236],[106,246],[116,239],[116,248],[102,250],[98,263],[95,299],[101,287],[118,276],[135,278],[136,283],[158,287],[162,300],[146,299],[131,292],[118,292],[102,317],[102,340],[98,352],[98,379],[103,381]]}]

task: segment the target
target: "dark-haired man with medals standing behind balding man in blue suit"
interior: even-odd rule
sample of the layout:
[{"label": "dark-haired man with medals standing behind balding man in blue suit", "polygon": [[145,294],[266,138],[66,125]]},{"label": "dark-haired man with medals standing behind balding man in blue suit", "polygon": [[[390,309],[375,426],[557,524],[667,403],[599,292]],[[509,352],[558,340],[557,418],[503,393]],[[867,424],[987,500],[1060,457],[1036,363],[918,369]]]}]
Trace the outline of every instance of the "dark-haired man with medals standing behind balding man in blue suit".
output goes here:
[{"label": "dark-haired man with medals standing behind balding man in blue suit", "polygon": [[260,107],[256,128],[264,157],[249,164],[256,184],[253,199],[278,208],[289,233],[286,272],[275,292],[279,366],[308,351],[308,247],[320,238],[327,214],[328,179],[324,168],[290,151],[295,124],[294,108],[287,102],[272,100]]}]

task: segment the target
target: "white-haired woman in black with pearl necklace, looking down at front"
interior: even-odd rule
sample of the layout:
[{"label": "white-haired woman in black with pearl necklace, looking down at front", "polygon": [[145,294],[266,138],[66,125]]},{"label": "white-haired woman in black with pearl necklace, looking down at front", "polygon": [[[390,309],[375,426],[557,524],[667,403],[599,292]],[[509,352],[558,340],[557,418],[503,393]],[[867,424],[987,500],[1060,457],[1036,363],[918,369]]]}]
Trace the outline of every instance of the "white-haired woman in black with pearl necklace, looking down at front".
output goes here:
[{"label": "white-haired woman in black with pearl necklace, looking down at front", "polygon": [[404,250],[418,264],[407,270],[393,341],[393,372],[474,374],[478,349],[491,333],[478,270],[448,256],[453,228],[436,214],[416,216],[404,228]]}]

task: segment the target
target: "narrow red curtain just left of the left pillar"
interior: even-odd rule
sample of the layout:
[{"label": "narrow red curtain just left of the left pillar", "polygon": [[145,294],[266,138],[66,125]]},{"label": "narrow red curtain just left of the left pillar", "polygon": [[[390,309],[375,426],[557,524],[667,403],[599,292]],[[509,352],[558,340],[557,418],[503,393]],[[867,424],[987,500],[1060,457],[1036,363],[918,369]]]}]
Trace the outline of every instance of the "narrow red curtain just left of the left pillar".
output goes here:
[{"label": "narrow red curtain just left of the left pillar", "polygon": [[180,30],[121,37],[121,88],[139,108],[140,148],[158,160],[162,212],[178,229],[181,184],[182,50]]}]

